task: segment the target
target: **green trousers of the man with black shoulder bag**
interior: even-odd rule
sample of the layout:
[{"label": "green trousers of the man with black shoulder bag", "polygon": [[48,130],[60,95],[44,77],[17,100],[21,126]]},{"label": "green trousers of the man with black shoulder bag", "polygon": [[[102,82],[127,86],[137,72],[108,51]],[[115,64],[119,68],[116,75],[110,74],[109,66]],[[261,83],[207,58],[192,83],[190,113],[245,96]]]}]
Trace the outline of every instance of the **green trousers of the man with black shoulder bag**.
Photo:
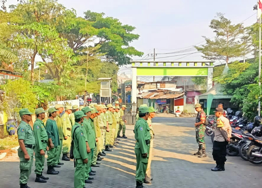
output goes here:
[{"label": "green trousers of the man with black shoulder bag", "polygon": [[83,188],[85,186],[86,165],[83,159],[75,159],[74,188]]}]

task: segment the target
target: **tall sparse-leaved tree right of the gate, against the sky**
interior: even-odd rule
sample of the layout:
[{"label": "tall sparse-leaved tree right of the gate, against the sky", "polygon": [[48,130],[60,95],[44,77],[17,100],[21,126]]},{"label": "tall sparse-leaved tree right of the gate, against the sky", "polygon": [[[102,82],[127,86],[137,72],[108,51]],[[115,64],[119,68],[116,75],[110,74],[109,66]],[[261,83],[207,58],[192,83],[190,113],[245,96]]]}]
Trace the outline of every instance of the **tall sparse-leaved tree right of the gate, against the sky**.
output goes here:
[{"label": "tall sparse-leaved tree right of the gate, against the sky", "polygon": [[195,46],[195,48],[203,53],[203,58],[209,60],[225,60],[228,64],[233,57],[243,56],[249,51],[249,40],[243,38],[239,40],[239,36],[244,30],[240,29],[242,25],[232,24],[231,20],[224,17],[222,13],[217,13],[215,19],[211,20],[209,25],[216,33],[214,40],[204,37],[205,45]]}]

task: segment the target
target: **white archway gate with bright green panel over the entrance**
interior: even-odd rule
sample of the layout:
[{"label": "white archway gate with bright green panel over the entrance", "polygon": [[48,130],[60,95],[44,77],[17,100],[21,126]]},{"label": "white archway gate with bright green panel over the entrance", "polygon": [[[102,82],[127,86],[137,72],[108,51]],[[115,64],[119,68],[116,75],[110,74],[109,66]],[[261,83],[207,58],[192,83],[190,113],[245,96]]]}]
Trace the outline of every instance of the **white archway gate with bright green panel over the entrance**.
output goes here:
[{"label": "white archway gate with bright green panel over the entrance", "polygon": [[137,76],[206,76],[212,88],[214,61],[131,61],[132,102],[137,103]]}]

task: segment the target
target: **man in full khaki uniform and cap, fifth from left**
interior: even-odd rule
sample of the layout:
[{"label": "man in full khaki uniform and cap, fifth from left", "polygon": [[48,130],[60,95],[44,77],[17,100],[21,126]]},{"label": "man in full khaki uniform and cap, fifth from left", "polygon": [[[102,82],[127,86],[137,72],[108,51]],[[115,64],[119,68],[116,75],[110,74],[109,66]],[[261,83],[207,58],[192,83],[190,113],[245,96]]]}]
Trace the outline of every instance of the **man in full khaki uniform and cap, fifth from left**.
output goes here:
[{"label": "man in full khaki uniform and cap, fifth from left", "polygon": [[64,161],[70,161],[68,155],[69,149],[70,149],[70,144],[71,144],[71,129],[72,129],[72,124],[69,119],[69,114],[72,113],[72,108],[71,106],[66,106],[65,107],[65,113],[61,117],[62,119],[62,126],[63,126],[63,134],[64,134],[64,140],[63,140],[63,148],[62,148],[62,153],[63,157],[62,160]]}]

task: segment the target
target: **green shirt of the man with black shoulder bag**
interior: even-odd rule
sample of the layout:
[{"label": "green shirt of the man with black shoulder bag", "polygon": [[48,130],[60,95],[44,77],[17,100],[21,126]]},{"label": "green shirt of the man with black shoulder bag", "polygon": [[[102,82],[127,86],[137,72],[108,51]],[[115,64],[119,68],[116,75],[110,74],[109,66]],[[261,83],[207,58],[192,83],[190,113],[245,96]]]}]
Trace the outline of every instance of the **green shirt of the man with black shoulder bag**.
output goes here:
[{"label": "green shirt of the man with black shoulder bag", "polygon": [[[78,128],[75,130],[76,127]],[[73,137],[74,130],[75,130],[75,135],[73,140],[74,157],[75,159],[87,159],[88,156],[86,152],[86,140],[85,140],[85,135],[83,134],[82,126],[79,123],[75,122],[71,130],[72,137]]]}]

